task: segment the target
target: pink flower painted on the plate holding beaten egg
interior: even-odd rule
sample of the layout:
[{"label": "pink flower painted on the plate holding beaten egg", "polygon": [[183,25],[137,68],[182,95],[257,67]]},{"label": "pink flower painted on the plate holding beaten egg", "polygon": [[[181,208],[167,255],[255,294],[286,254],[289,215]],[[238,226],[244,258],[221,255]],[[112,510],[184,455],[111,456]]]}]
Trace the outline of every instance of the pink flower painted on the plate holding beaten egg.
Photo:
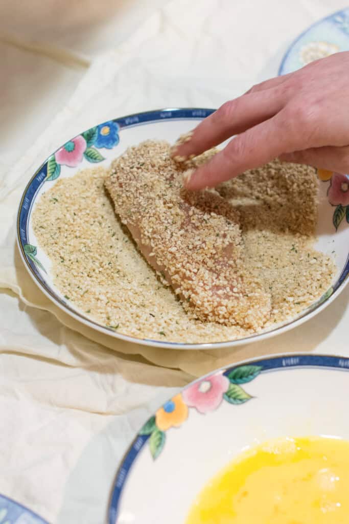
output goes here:
[{"label": "pink flower painted on the plate holding beaten egg", "polygon": [[207,413],[218,408],[228,388],[229,379],[219,373],[200,380],[185,389],[182,398],[190,408],[196,408],[200,413]]}]

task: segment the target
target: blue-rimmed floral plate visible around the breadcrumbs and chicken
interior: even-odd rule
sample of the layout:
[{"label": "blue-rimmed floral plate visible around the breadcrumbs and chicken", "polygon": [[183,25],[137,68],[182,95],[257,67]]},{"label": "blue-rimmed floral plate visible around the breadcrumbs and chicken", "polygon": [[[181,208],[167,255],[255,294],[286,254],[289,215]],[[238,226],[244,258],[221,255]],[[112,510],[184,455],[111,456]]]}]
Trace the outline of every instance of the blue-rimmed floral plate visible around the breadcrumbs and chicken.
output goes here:
[{"label": "blue-rimmed floral plate visible around the breadcrumbs and chicken", "polygon": [[[325,176],[324,178],[327,178],[327,180],[321,183],[320,191],[321,202],[317,232],[319,242],[317,248],[336,257],[338,271],[335,281],[316,303],[303,310],[296,318],[287,321],[285,324],[276,325],[273,330],[236,341],[208,344],[179,344],[160,340],[138,339],[118,333],[108,326],[98,324],[87,318],[82,311],[75,309],[74,305],[69,303],[54,286],[49,269],[50,260],[38,247],[31,226],[32,210],[42,192],[52,187],[60,177],[72,177],[81,168],[99,163],[109,165],[110,161],[125,151],[127,147],[136,145],[142,140],[161,137],[173,143],[180,134],[192,129],[196,121],[200,121],[212,112],[212,109],[202,108],[167,108],[110,120],[87,129],[67,141],[60,149],[53,152],[33,174],[22,195],[18,210],[17,240],[20,254],[29,274],[40,289],[76,320],[110,336],[144,345],[177,349],[230,347],[261,340],[294,328],[321,311],[344,288],[349,273],[349,205],[344,205],[345,202],[341,199],[346,198],[346,196],[349,197],[349,191],[347,193],[342,191],[345,184],[348,187],[349,179],[343,175],[335,175],[331,180],[328,176]],[[344,177],[344,179],[342,180],[341,177]],[[329,199],[338,203],[333,207]],[[347,204],[349,204],[349,200]]]}]

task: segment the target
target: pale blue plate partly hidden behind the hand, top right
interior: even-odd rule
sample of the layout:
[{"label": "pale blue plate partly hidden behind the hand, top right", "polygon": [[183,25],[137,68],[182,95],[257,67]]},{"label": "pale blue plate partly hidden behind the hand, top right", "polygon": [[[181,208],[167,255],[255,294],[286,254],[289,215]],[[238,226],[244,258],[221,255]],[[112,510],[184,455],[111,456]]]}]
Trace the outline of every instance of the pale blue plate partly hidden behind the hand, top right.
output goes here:
[{"label": "pale blue plate partly hidden behind the hand, top right", "polygon": [[279,74],[291,73],[313,60],[349,51],[349,7],[317,21],[288,48]]}]

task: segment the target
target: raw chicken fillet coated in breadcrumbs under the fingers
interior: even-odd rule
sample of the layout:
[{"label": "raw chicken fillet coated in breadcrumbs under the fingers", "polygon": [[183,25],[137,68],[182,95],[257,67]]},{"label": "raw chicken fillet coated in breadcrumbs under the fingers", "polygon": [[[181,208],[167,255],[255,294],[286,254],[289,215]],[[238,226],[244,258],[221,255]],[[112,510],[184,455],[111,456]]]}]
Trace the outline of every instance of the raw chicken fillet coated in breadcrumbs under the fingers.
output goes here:
[{"label": "raw chicken fillet coated in breadcrumbs under the fingers", "polygon": [[[206,158],[191,160],[192,167]],[[170,144],[148,140],[112,162],[105,187],[141,253],[188,314],[261,328],[271,297],[242,266],[238,212],[215,190],[184,190],[186,168],[170,157]]]}]

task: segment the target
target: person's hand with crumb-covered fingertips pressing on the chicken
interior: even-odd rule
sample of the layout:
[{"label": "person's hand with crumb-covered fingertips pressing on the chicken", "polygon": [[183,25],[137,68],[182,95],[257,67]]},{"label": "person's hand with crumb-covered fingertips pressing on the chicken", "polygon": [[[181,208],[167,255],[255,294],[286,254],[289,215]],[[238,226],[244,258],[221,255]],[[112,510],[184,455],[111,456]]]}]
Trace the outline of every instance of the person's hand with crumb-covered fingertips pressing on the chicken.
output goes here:
[{"label": "person's hand with crumb-covered fingertips pressing on the chicken", "polygon": [[233,135],[186,178],[187,189],[214,187],[276,157],[349,172],[349,52],[253,86],[200,122],[173,156],[199,155]]}]

